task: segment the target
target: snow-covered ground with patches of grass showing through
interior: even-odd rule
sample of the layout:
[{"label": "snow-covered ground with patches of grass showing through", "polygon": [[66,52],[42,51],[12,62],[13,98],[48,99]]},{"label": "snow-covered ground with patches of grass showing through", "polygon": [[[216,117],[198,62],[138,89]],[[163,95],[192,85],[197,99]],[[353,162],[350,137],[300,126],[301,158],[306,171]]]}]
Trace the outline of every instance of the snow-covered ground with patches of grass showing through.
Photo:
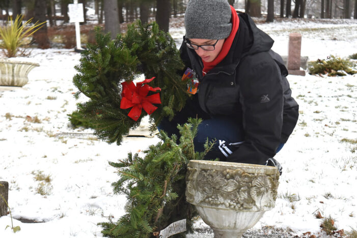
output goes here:
[{"label": "snow-covered ground with patches of grass showing through", "polygon": [[[179,20],[177,20],[179,21]],[[357,53],[357,21],[259,24],[287,54],[288,35],[303,35],[301,54],[310,60]],[[182,27],[171,28],[182,39]],[[0,181],[9,182],[10,215],[0,218],[1,238],[101,237],[98,222],[124,213],[125,197],[114,195],[118,180],[108,161],[144,150],[158,138],[125,138],[122,145],[97,140],[90,129],[72,129],[67,114],[76,109],[72,77],[80,55],[72,50],[34,50],[38,62],[29,83],[0,90]],[[300,116],[295,131],[275,157],[283,165],[276,207],[252,230],[283,228],[301,235],[320,231],[331,216],[338,229],[357,229],[357,76],[288,76]],[[79,100],[86,100],[81,97]],[[50,183],[36,178],[49,176]],[[42,193],[43,195],[41,195]],[[23,219],[42,223],[22,223]],[[205,230],[201,220],[198,230]],[[190,237],[213,237],[212,233]],[[251,237],[251,236],[250,236]],[[253,237],[253,236],[252,236]],[[278,236],[277,236],[278,237]],[[286,236],[279,236],[286,237]],[[290,236],[289,236],[290,237]]]}]

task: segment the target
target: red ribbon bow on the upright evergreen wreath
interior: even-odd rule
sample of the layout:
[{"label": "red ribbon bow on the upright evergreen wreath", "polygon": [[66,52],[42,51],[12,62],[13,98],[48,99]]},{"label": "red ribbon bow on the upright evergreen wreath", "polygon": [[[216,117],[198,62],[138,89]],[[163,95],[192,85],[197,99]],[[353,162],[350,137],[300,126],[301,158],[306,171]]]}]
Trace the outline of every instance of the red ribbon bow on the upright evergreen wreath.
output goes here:
[{"label": "red ribbon bow on the upright evergreen wreath", "polygon": [[144,108],[144,110],[150,115],[157,109],[157,107],[152,104],[161,104],[159,93],[147,96],[149,91],[161,91],[161,88],[159,87],[153,88],[148,84],[144,84],[151,82],[154,78],[155,77],[152,77],[150,79],[145,79],[142,82],[138,82],[136,83],[136,86],[132,81],[129,83],[121,83],[123,86],[123,90],[120,108],[127,109],[129,107],[132,107],[128,116],[135,122],[138,121],[142,112],[142,108]]}]

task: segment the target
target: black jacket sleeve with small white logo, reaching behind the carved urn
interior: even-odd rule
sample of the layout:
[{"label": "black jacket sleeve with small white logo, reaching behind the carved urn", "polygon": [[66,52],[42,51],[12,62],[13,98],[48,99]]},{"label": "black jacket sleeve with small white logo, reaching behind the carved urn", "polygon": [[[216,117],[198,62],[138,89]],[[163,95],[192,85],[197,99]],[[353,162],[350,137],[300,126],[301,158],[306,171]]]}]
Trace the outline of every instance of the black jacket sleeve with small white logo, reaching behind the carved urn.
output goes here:
[{"label": "black jacket sleeve with small white logo, reaching behind the carved urn", "polygon": [[[259,55],[261,54],[261,55]],[[271,57],[256,54],[241,62],[238,72],[244,143],[227,158],[229,162],[265,164],[276,154],[283,124],[284,95],[279,67]]]}]

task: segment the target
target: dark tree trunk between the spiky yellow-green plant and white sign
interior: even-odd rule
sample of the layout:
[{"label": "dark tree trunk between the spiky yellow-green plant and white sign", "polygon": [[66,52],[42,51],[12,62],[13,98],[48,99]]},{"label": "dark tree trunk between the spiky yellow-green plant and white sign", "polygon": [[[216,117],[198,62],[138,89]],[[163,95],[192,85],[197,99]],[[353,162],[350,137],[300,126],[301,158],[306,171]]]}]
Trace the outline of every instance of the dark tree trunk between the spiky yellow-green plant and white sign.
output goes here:
[{"label": "dark tree trunk between the spiky yellow-green plant and white sign", "polygon": [[[46,0],[35,0],[35,16],[34,21],[44,22],[46,21]],[[43,26],[33,35],[35,42],[41,49],[49,48],[49,39],[47,35],[47,25]]]}]

